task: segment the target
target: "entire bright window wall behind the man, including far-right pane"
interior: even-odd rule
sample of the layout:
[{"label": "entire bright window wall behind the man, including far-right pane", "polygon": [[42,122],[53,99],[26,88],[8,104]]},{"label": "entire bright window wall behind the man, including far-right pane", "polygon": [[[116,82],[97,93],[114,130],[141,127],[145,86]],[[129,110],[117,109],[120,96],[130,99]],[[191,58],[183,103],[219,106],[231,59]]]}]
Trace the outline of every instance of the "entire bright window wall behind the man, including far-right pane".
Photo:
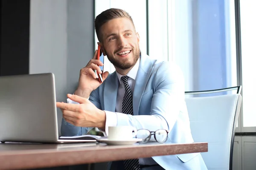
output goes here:
[{"label": "entire bright window wall behind the man, including far-right pane", "polygon": [[[237,77],[241,76],[243,111],[239,129],[242,132],[255,132],[256,113],[253,106],[256,103],[256,76],[253,73],[256,72],[256,24],[253,17],[256,16],[256,2],[240,1],[242,59],[238,61],[236,0],[95,2],[95,15],[111,7],[128,11],[140,34],[141,51],[147,52],[151,58],[176,62],[184,74],[185,91],[237,86],[240,85]],[[113,72],[113,66],[108,61],[105,63],[105,68]],[[241,70],[237,71],[240,64],[242,74],[237,75],[237,72],[241,73]]]}]

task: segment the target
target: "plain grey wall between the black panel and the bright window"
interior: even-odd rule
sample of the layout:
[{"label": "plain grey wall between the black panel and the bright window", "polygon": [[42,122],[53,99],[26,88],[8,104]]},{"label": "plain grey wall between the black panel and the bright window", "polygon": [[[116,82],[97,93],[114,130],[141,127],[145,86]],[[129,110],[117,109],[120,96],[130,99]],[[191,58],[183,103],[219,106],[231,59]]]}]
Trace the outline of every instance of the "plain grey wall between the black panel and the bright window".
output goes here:
[{"label": "plain grey wall between the black panel and the bright window", "polygon": [[[30,1],[29,74],[55,74],[56,100],[66,102],[94,53],[93,0]],[[40,90],[40,89],[39,89]],[[60,132],[62,114],[58,109]]]}]

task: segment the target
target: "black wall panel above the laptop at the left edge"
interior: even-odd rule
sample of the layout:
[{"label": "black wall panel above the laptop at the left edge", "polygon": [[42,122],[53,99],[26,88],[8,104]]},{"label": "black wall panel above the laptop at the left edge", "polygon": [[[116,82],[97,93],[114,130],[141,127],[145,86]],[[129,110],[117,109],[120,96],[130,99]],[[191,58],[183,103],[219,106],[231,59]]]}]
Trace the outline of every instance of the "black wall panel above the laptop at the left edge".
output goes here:
[{"label": "black wall panel above the laptop at the left edge", "polygon": [[0,1],[0,76],[29,73],[30,0]]}]

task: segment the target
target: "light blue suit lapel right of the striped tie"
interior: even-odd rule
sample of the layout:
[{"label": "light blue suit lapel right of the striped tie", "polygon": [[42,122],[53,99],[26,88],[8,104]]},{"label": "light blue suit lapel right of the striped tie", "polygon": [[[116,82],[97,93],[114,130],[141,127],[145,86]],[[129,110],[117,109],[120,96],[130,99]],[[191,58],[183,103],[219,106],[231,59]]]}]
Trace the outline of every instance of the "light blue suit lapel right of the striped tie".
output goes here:
[{"label": "light blue suit lapel right of the striped tie", "polygon": [[151,59],[148,56],[144,55],[140,57],[140,66],[137,72],[134,92],[133,92],[133,110],[134,115],[138,115],[140,100],[145,91],[148,80],[152,74],[153,66]]}]

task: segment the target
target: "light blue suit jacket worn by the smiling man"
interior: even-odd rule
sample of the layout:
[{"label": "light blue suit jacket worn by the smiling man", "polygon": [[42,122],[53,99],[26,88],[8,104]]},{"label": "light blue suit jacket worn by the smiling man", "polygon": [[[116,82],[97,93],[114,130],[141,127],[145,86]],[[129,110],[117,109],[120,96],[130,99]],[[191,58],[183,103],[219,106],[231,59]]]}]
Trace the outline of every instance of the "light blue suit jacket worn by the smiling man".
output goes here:
[{"label": "light blue suit jacket worn by the smiling man", "polygon": [[[90,101],[97,108],[115,112],[119,80],[116,72],[90,94]],[[140,66],[133,92],[134,116],[116,113],[117,126],[131,125],[137,129],[169,130],[170,143],[193,142],[187,113],[183,74],[172,62],[140,57]],[[139,116],[138,116],[139,115]],[[62,136],[86,134],[92,127],[76,127],[69,123],[61,125]],[[188,153],[152,157],[166,170],[207,169],[200,153]]]}]

